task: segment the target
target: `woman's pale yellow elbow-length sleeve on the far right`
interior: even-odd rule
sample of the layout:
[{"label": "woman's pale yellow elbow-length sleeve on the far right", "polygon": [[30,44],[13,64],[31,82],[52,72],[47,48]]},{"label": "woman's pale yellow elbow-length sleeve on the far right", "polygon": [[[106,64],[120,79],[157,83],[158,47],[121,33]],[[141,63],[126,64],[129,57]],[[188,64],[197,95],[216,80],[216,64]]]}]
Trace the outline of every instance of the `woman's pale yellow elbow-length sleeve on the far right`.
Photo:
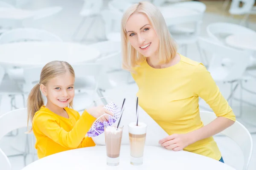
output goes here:
[{"label": "woman's pale yellow elbow-length sleeve on the far right", "polygon": [[236,116],[230,108],[227,100],[222,96],[218,86],[213,80],[211,74],[204,65],[199,64],[193,75],[195,82],[192,83],[195,89],[195,95],[204,99],[212,108],[216,116],[226,117],[227,119],[236,121]]}]

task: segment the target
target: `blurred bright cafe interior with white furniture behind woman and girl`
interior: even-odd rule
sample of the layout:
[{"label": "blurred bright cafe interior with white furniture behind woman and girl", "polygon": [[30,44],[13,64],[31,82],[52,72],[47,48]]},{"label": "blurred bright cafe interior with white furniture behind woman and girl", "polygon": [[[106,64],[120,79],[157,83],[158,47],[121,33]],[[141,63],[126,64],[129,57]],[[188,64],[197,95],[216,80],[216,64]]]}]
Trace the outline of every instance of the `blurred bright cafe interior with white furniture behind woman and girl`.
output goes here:
[{"label": "blurred bright cafe interior with white furniture behind woman and girl", "polygon": [[[248,170],[255,170],[255,0],[149,1],[162,9],[179,45],[178,52],[207,66],[237,121],[252,136],[252,143],[243,141],[238,132],[233,132],[237,140],[214,136],[225,163],[240,170],[251,155]],[[1,122],[1,116],[26,107],[28,92],[38,81],[38,70],[40,73],[47,62],[57,59],[73,65],[101,65],[100,69],[88,71],[85,67],[76,73],[81,76],[76,79],[80,85],[76,86],[76,110],[82,111],[102,96],[107,96],[102,103],[114,101],[119,105],[124,97],[135,99],[137,85],[121,68],[120,20],[124,10],[136,2],[139,0],[0,1],[0,132],[10,129],[5,136],[0,135],[0,149],[12,170],[38,159],[35,139],[24,133],[26,127],[13,130],[13,123]],[[202,42],[204,38],[210,43]],[[221,44],[223,51],[213,50],[211,43]],[[244,55],[234,53],[237,49]],[[93,87],[88,87],[91,81],[95,81]],[[200,109],[211,111],[204,101],[200,101]],[[9,121],[19,120],[12,117]],[[243,145],[250,149],[244,150]]]}]

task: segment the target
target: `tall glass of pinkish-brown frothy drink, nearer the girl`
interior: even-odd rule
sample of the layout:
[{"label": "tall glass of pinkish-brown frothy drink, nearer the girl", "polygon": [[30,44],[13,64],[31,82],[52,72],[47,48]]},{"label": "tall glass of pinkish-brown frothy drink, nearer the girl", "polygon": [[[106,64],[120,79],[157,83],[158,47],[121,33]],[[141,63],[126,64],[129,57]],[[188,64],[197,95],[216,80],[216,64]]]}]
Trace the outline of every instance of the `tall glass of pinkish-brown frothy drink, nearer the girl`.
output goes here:
[{"label": "tall glass of pinkish-brown frothy drink, nearer the girl", "polygon": [[122,141],[123,126],[105,127],[105,143],[107,151],[107,164],[111,166],[119,165],[120,147]]}]

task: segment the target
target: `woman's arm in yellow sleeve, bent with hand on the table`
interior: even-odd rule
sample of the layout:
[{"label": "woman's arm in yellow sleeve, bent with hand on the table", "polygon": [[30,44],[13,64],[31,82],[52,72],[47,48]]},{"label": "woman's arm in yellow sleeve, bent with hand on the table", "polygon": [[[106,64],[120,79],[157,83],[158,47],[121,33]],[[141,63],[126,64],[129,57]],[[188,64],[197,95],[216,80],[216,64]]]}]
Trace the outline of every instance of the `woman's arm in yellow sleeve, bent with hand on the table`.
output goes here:
[{"label": "woman's arm in yellow sleeve, bent with hand on the table", "polygon": [[198,65],[191,77],[191,89],[212,108],[217,118],[208,125],[186,134],[173,134],[159,141],[167,149],[181,150],[189,144],[213,136],[233,125],[236,116],[204,65]]}]

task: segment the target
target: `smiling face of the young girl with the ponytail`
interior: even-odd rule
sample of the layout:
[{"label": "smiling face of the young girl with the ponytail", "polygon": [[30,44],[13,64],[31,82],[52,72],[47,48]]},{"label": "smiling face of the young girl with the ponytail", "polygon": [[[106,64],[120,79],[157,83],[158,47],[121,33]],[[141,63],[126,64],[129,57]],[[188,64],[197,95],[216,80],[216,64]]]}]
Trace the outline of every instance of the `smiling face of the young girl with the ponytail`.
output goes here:
[{"label": "smiling face of the young girl with the ponytail", "polygon": [[75,78],[67,71],[65,74],[49,80],[46,86],[41,88],[41,91],[47,96],[47,104],[65,108],[73,100]]}]

